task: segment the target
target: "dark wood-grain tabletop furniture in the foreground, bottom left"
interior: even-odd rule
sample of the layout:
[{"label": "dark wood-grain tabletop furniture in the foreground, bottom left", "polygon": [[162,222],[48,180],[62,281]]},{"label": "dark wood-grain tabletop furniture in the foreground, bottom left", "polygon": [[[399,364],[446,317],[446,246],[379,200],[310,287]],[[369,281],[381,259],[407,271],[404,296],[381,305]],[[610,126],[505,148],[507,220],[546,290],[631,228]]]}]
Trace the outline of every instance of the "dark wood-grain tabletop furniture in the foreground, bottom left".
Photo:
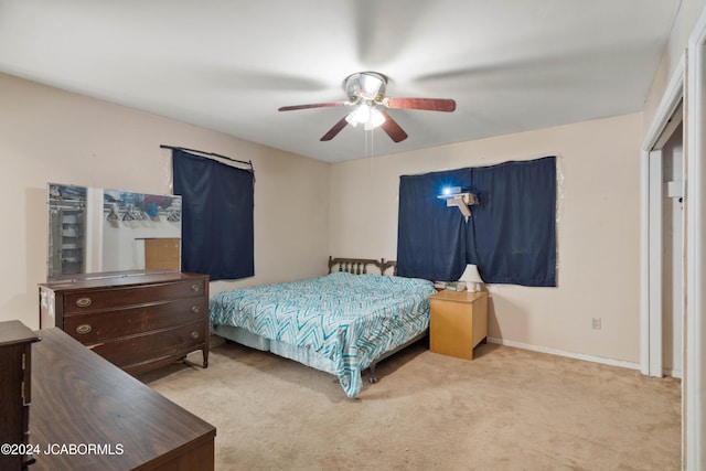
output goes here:
[{"label": "dark wood-grain tabletop furniture in the foreground, bottom left", "polygon": [[[39,470],[213,470],[216,429],[57,328],[32,345]],[[49,452],[47,452],[49,450]]]}]

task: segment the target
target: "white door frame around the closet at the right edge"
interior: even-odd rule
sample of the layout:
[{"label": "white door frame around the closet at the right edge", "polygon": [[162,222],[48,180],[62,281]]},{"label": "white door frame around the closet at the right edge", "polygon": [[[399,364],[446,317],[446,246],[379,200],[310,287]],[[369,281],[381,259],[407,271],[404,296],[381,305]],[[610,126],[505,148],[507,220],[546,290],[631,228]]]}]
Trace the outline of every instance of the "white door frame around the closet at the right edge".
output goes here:
[{"label": "white door frame around the closet at the right edge", "polygon": [[[640,370],[653,371],[650,306],[649,153],[683,99],[684,116],[684,208],[685,208],[685,319],[682,379],[682,468],[706,469],[706,9],[702,10],[689,36],[685,55],[667,85],[642,147],[641,159],[641,263]],[[660,353],[661,354],[661,353]]]}]

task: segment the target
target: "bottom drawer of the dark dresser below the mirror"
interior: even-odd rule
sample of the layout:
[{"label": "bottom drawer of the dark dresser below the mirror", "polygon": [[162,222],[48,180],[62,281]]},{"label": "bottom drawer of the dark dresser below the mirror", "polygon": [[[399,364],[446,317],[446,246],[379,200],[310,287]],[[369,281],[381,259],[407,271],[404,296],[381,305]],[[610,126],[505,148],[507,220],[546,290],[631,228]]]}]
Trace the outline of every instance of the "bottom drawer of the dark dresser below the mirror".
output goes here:
[{"label": "bottom drawer of the dark dresser below the mirror", "polygon": [[186,353],[199,350],[206,341],[206,325],[197,322],[145,335],[116,339],[89,349],[129,372],[131,366],[146,363],[146,358],[151,362],[185,356]]}]

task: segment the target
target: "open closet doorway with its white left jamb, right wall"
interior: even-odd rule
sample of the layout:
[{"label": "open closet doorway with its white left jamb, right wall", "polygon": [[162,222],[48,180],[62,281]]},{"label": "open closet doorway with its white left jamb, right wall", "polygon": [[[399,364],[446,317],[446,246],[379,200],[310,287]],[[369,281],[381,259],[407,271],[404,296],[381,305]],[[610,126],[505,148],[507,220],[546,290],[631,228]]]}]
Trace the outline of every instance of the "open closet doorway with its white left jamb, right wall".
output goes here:
[{"label": "open closet doorway with its white left jamb, right wall", "polygon": [[644,147],[643,374],[682,377],[685,304],[684,109],[681,76],[670,113]]}]

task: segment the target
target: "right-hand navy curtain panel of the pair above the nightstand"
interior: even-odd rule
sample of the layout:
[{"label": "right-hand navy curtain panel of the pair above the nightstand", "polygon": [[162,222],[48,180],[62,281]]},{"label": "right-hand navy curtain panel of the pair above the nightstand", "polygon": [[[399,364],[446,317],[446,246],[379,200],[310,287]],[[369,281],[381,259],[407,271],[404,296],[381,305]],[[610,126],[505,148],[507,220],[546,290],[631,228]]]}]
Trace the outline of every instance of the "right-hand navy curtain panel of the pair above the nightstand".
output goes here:
[{"label": "right-hand navy curtain panel of the pair above the nightstand", "polygon": [[486,282],[556,286],[556,158],[473,169],[467,250]]}]

